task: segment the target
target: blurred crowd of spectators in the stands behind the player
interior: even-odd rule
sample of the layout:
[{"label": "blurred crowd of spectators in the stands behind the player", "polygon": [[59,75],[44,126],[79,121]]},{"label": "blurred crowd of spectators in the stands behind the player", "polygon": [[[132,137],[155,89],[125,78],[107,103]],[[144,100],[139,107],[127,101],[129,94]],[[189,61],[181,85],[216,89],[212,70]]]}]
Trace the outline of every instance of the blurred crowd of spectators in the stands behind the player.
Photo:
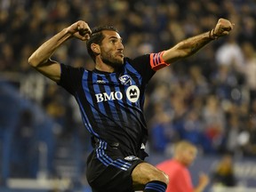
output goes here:
[{"label": "blurred crowd of spectators in the stands behind the player", "polygon": [[[235,24],[196,55],[161,69],[148,84],[145,114],[152,152],[190,140],[207,154],[256,156],[256,3],[254,0],[2,0],[0,73],[44,108],[60,135],[84,130],[68,93],[28,66],[29,55],[76,20],[113,25],[124,53],[159,52],[209,31],[219,18]],[[52,56],[92,69],[84,42],[69,40]],[[86,133],[84,140],[86,138]]]}]

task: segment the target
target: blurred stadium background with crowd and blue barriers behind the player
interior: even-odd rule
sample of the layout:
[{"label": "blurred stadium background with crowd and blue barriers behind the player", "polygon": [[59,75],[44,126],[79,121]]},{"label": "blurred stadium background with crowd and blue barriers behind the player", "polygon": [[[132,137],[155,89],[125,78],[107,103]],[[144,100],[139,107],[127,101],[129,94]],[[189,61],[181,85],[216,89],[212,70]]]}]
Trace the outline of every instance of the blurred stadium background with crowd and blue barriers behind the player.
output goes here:
[{"label": "blurred stadium background with crowd and blue barriers behind the player", "polygon": [[[235,23],[230,36],[160,70],[148,85],[148,162],[169,158],[175,141],[190,140],[199,148],[193,182],[207,172],[206,191],[255,191],[255,10],[255,0],[0,0],[0,191],[90,192],[90,138],[68,93],[28,66],[38,45],[85,20],[91,28],[118,28],[126,56],[135,57],[208,31],[220,17]],[[93,68],[78,40],[54,59]],[[227,154],[236,183],[225,188],[213,175],[225,177],[216,164]]]}]

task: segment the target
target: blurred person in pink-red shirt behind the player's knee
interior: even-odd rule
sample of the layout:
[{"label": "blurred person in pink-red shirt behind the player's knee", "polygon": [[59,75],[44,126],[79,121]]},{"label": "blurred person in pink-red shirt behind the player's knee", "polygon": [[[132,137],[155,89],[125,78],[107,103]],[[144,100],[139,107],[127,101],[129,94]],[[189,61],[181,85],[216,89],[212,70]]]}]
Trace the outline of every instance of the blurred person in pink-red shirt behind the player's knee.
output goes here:
[{"label": "blurred person in pink-red shirt behind the player's knee", "polygon": [[172,159],[166,160],[156,167],[169,176],[167,192],[202,192],[209,183],[209,177],[201,173],[196,187],[193,187],[188,166],[196,158],[197,149],[192,143],[181,140],[174,147]]}]

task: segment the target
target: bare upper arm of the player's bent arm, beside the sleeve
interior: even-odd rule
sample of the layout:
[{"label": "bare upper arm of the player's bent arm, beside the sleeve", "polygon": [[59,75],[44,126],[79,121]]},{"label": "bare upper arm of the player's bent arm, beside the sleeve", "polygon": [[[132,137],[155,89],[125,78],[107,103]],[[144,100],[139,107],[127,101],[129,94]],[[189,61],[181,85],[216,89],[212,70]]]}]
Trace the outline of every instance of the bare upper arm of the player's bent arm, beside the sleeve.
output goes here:
[{"label": "bare upper arm of the player's bent arm, beside the sleeve", "polygon": [[54,82],[60,82],[60,63],[55,60],[47,60],[40,66],[36,67],[36,70],[39,71],[44,76],[52,79]]}]

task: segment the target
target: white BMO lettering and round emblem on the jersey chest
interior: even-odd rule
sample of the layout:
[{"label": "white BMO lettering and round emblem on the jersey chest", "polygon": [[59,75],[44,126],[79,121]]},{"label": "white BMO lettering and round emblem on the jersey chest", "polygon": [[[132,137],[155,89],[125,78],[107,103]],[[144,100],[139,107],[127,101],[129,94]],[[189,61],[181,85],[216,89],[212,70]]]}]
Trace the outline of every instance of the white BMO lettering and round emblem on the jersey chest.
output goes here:
[{"label": "white BMO lettering and round emblem on the jersey chest", "polygon": [[[122,92],[102,92],[95,94],[97,102],[108,101],[108,100],[122,100]],[[140,97],[140,89],[136,85],[129,86],[126,90],[126,97],[131,102],[137,102]]]}]

